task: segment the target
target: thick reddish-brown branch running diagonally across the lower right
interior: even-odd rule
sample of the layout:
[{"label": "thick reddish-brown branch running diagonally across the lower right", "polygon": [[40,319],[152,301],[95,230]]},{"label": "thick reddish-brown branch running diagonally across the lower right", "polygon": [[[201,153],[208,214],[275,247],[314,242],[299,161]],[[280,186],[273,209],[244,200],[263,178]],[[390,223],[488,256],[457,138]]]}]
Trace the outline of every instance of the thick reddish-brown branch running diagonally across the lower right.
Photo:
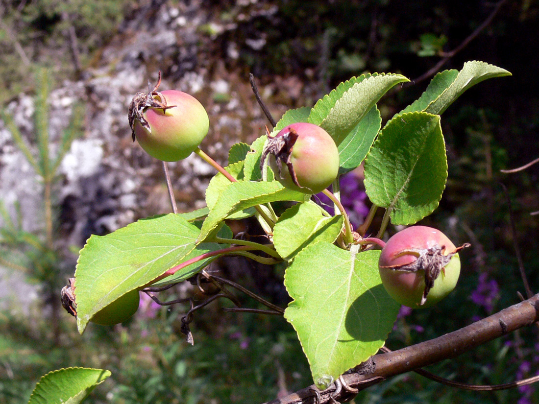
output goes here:
[{"label": "thick reddish-brown branch running diagonally across the lower right", "polygon": [[[398,351],[378,353],[371,357],[370,366],[362,367],[361,371],[344,374],[342,379],[345,385],[362,390],[392,376],[454,358],[476,346],[537,321],[539,321],[539,294],[441,337]],[[269,401],[267,404],[316,402],[317,394],[314,391],[316,387],[312,385],[284,398]],[[332,386],[320,392],[320,404],[330,402],[332,394],[333,399],[337,401],[350,398],[347,389],[340,388],[334,394],[335,391],[336,387]]]}]

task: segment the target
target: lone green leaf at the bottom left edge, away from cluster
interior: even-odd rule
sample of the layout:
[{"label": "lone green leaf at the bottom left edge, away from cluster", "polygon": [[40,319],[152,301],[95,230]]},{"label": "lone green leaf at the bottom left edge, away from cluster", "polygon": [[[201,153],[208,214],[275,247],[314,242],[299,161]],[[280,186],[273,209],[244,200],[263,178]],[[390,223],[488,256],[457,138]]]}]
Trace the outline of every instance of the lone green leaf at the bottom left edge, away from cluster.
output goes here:
[{"label": "lone green leaf at the bottom left edge, away from cluster", "polygon": [[84,367],[49,372],[39,380],[28,404],[78,404],[109,376],[107,370]]}]

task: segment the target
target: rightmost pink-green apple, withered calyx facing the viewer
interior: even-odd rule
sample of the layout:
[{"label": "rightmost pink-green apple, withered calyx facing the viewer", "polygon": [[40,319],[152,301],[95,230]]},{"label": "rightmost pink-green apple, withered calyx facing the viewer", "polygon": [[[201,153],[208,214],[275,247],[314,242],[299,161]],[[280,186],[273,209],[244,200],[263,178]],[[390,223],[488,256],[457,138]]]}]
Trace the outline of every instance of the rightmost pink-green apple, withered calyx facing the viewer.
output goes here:
[{"label": "rightmost pink-green apple, withered calyx facing the viewer", "polygon": [[382,249],[378,267],[388,294],[400,304],[426,308],[438,303],[457,285],[458,252],[439,230],[411,226],[393,235]]}]

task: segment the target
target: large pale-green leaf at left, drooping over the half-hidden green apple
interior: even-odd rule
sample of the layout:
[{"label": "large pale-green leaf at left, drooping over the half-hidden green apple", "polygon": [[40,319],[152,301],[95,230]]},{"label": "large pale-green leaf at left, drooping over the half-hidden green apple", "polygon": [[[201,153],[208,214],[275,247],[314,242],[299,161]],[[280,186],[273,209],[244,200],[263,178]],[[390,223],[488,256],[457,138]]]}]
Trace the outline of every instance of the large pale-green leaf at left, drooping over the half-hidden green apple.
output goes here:
[{"label": "large pale-green leaf at left, drooping over the half-hidden green apple", "polygon": [[96,312],[182,262],[195,248],[199,233],[198,227],[170,213],[105,236],[92,235],[75,270],[79,332]]}]

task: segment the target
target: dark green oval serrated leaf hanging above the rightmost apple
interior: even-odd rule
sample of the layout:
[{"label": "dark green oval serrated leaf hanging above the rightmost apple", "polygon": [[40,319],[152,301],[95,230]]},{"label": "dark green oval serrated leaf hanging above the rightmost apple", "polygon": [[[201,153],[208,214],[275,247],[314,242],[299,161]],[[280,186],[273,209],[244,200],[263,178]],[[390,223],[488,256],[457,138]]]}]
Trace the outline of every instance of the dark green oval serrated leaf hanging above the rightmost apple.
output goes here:
[{"label": "dark green oval serrated leaf hanging above the rightmost apple", "polygon": [[365,191],[390,210],[391,222],[410,225],[431,214],[447,179],[440,117],[412,112],[393,117],[365,159]]}]

